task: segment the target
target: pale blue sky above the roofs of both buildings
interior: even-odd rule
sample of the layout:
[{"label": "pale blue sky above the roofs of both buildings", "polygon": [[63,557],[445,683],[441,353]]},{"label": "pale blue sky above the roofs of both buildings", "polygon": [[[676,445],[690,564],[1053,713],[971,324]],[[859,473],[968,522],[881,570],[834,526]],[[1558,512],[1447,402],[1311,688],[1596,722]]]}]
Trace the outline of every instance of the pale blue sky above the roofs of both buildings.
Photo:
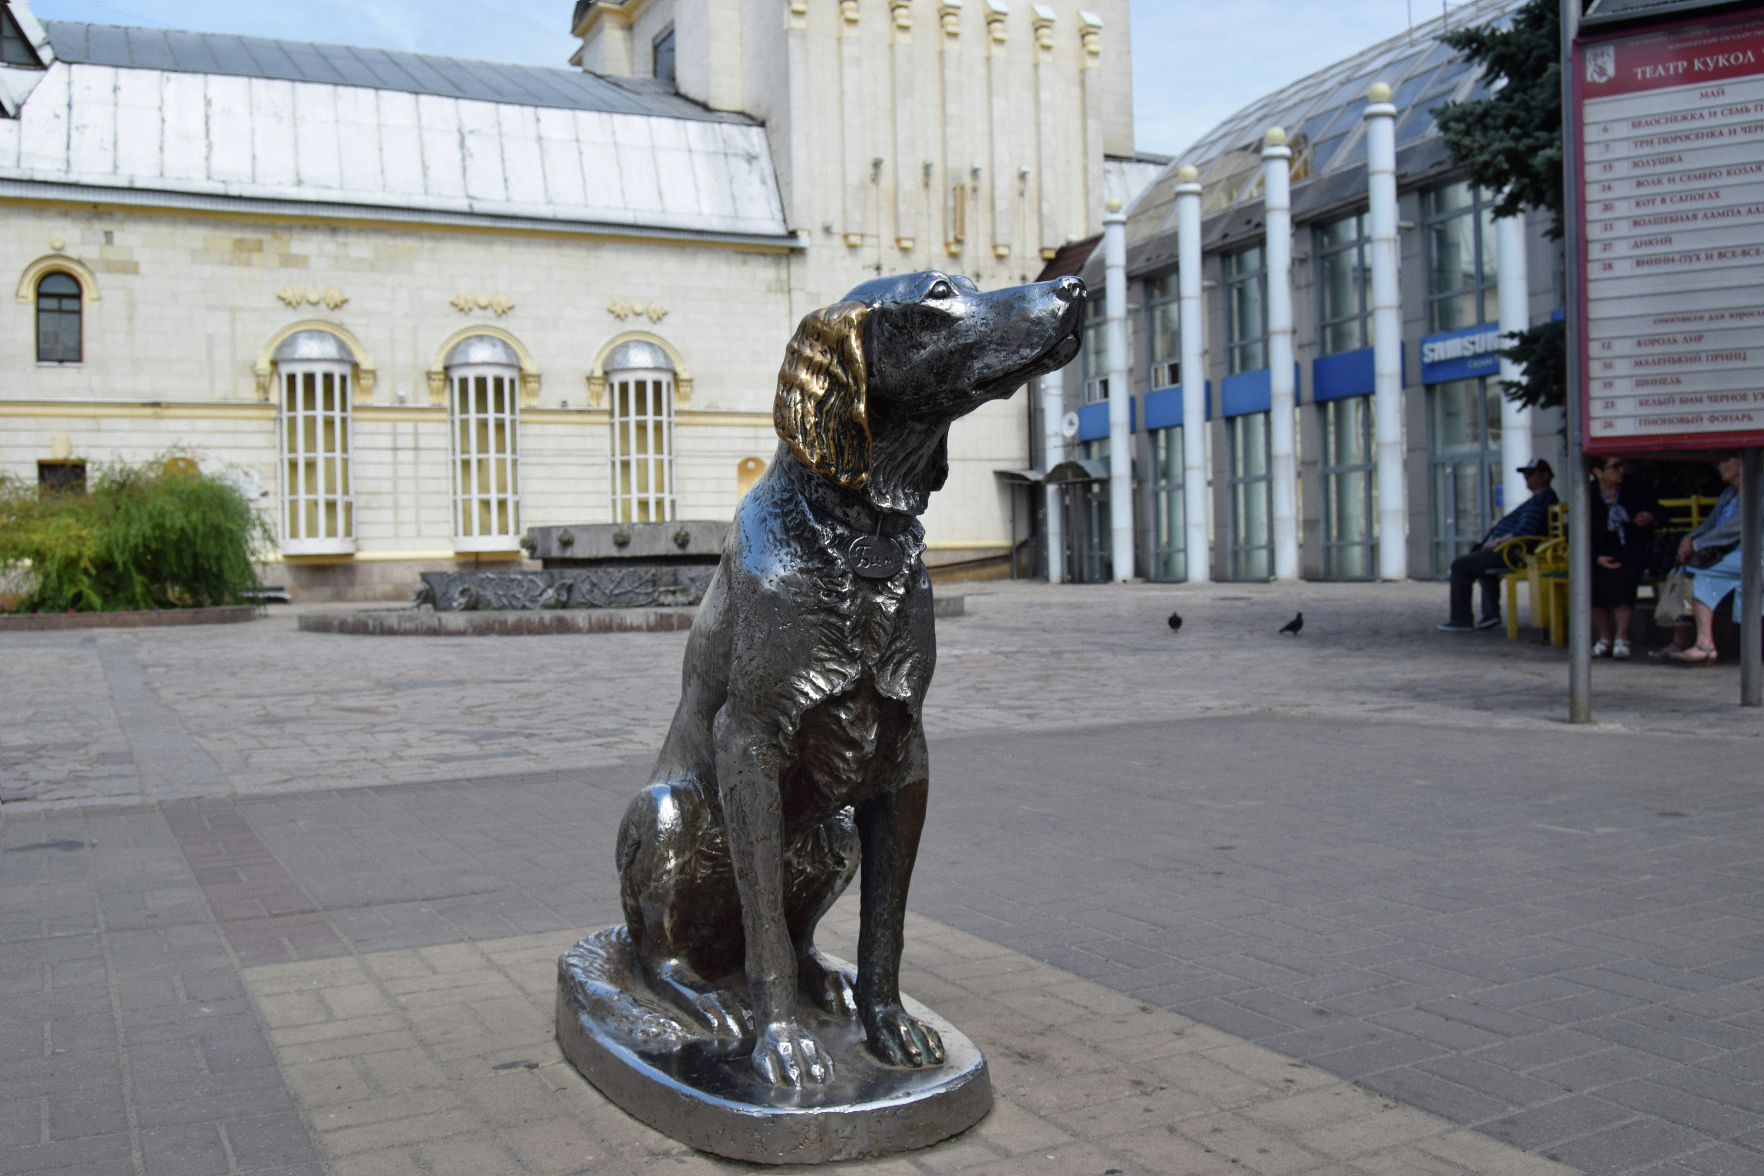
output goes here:
[{"label": "pale blue sky above the roofs of both buildings", "polygon": [[[1134,141],[1175,155],[1233,111],[1416,21],[1441,0],[1131,0]],[[575,51],[572,0],[34,0],[42,19],[332,41],[527,65]],[[492,16],[494,12],[494,16]],[[1104,33],[1106,35],[1106,33]]]}]

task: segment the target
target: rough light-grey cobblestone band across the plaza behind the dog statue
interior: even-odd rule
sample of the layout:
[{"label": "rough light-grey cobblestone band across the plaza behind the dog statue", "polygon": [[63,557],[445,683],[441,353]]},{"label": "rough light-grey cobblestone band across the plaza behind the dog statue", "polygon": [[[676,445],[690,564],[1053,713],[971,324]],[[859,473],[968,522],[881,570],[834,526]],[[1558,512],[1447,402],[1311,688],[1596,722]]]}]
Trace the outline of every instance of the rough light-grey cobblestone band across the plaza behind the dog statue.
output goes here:
[{"label": "rough light-grey cobblestone band across the plaza behind the dog statue", "polygon": [[[1434,631],[1443,585],[963,585],[933,735],[1281,714],[1554,726],[1566,659]],[[1182,633],[1164,617],[1178,610]],[[1298,610],[1298,638],[1277,629]],[[619,763],[660,746],[681,633],[369,638],[242,626],[0,635],[0,799],[261,795]],[[1603,732],[1759,737],[1738,668],[1598,663]]]}]

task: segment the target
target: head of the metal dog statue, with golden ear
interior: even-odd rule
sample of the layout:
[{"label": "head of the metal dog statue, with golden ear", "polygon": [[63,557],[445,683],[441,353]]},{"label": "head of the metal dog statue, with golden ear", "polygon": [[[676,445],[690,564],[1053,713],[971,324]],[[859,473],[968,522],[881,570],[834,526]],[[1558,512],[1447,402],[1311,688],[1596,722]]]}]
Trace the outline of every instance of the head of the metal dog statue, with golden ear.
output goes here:
[{"label": "head of the metal dog statue, with golden ear", "polygon": [[1078,354],[1085,284],[981,293],[965,277],[864,282],[803,319],[773,418],[796,458],[884,510],[924,510],[949,425]]}]

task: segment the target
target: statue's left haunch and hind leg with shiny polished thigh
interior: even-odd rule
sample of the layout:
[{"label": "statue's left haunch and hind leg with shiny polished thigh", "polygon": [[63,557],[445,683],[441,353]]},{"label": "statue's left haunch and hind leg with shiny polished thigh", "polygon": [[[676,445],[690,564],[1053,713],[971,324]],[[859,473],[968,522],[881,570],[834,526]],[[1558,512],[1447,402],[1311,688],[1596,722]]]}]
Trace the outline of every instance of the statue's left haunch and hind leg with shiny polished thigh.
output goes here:
[{"label": "statue's left haunch and hind leg with shiny polished thigh", "polygon": [[729,837],[693,778],[649,785],[619,823],[619,899],[656,996],[718,1035],[753,1031],[744,993],[718,986],[746,947]]}]

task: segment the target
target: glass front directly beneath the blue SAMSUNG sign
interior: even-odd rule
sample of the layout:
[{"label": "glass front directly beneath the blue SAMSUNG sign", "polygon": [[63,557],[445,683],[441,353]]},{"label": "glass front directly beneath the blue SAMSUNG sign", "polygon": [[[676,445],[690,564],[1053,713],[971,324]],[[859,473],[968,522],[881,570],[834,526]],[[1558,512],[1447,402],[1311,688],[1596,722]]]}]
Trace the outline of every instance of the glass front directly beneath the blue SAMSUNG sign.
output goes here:
[{"label": "glass front directly beneath the blue SAMSUNG sign", "polygon": [[1492,379],[1429,384],[1434,573],[1469,554],[1501,517],[1501,391]]}]

